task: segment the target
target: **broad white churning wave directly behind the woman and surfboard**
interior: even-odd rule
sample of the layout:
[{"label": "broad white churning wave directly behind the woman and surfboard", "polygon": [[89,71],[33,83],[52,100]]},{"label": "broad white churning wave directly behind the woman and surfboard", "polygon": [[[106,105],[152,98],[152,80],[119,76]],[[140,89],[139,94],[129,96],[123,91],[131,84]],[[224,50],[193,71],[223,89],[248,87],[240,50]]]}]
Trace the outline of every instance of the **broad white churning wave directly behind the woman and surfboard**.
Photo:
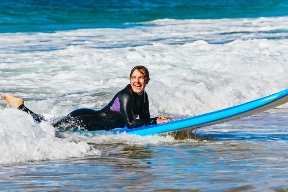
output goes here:
[{"label": "broad white churning wave directly behind the woman and surfboard", "polygon": [[[129,83],[131,68],[141,64],[150,72],[146,91],[151,114],[193,116],[286,89],[287,46],[287,39],[235,40],[227,44],[202,40],[184,45],[157,43],[134,48],[133,52],[143,57],[140,63],[138,57],[127,58],[130,47],[93,50],[95,54],[87,53],[94,60],[92,64],[81,58],[76,59],[76,64],[70,62],[73,57],[65,60],[50,52],[45,54],[53,59],[45,65],[33,62],[39,59],[38,53],[23,63],[26,58],[18,54],[17,58],[10,58],[14,59],[15,69],[2,64],[2,69],[10,72],[0,83],[2,92],[24,97],[32,111],[63,116],[77,108],[104,107]],[[105,62],[97,60],[99,52],[107,58]],[[114,58],[112,53],[116,58],[122,56],[125,66],[119,67],[116,60],[109,59]],[[17,63],[18,59],[22,62]],[[54,67],[54,59],[58,60],[58,68]],[[6,105],[3,101],[2,106]]]}]

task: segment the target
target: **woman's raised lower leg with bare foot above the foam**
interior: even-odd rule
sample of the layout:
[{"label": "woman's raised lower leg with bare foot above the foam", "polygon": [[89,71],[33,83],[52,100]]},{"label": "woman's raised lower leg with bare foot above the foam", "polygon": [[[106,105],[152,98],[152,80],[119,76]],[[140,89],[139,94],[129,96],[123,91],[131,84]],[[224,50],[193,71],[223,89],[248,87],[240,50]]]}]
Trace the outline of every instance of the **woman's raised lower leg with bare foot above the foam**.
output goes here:
[{"label": "woman's raised lower leg with bare foot above the foam", "polygon": [[18,109],[25,111],[26,113],[30,114],[35,121],[40,123],[42,120],[45,120],[45,118],[42,115],[33,113],[27,107],[25,107],[24,106],[24,99],[14,97],[14,96],[9,95],[9,94],[3,94],[3,95],[1,95],[1,97],[3,99],[5,99],[9,105],[11,105],[13,107],[17,107]]}]

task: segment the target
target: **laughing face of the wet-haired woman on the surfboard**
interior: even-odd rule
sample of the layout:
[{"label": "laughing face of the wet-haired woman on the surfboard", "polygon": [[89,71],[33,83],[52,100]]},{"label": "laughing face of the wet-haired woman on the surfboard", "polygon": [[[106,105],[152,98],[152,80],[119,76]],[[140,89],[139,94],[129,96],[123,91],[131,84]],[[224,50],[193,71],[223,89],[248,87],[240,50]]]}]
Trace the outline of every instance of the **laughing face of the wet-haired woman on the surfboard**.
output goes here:
[{"label": "laughing face of the wet-haired woman on the surfboard", "polygon": [[138,95],[142,94],[148,82],[149,81],[145,83],[144,75],[140,73],[137,69],[131,75],[130,84],[131,84],[132,90]]}]

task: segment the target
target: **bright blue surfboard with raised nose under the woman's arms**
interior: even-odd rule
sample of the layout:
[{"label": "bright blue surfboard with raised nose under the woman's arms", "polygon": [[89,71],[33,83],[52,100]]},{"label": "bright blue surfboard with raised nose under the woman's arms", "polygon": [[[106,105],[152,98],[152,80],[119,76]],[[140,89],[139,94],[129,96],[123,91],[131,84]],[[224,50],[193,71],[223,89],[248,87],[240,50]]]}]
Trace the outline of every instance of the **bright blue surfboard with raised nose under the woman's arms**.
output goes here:
[{"label": "bright blue surfboard with raised nose under the woman's arms", "polygon": [[288,89],[247,103],[243,103],[240,105],[236,105],[233,107],[225,108],[219,111],[214,111],[194,117],[174,120],[167,123],[142,126],[134,129],[128,129],[127,127],[124,127],[109,131],[113,133],[126,132],[128,134],[137,134],[140,136],[146,136],[146,135],[168,133],[187,128],[196,129],[199,127],[214,125],[217,123],[223,123],[230,120],[239,119],[242,117],[247,117],[256,113],[260,113],[275,108],[279,105],[283,105],[286,102],[288,102]]}]

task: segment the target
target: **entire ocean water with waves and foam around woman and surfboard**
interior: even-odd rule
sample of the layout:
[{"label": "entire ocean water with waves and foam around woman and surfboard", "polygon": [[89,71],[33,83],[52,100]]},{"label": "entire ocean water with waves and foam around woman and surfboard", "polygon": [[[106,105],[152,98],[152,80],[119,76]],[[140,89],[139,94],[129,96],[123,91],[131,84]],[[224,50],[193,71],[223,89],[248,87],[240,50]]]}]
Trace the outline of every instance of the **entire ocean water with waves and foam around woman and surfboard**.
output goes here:
[{"label": "entire ocean water with waves and foam around woman and surfboard", "polygon": [[[149,69],[151,116],[288,87],[287,1],[0,2],[0,93],[47,119],[101,109]],[[0,100],[3,191],[286,191],[288,104],[179,133],[58,132]]]}]

